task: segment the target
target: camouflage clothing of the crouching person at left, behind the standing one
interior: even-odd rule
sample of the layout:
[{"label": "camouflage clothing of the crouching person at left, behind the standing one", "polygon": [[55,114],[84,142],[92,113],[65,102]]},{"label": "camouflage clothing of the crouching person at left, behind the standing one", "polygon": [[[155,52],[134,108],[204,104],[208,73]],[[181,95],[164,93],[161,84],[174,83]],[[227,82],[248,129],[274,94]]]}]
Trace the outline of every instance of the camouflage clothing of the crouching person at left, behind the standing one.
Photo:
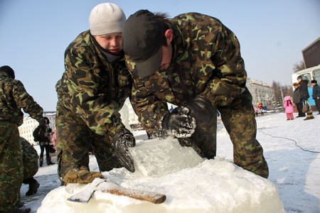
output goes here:
[{"label": "camouflage clothing of the crouching person at left, behind the standing one", "polygon": [[23,182],[28,178],[33,178],[38,172],[38,153],[35,148],[25,139],[20,137],[22,162],[23,162]]}]

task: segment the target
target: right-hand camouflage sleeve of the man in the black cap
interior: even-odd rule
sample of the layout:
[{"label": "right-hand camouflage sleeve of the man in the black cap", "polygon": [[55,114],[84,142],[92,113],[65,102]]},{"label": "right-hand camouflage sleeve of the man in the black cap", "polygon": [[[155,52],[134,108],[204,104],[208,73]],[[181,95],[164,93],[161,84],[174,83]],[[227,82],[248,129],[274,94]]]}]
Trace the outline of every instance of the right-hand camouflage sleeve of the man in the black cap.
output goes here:
[{"label": "right-hand camouflage sleeve of the man in the black cap", "polygon": [[202,95],[214,106],[223,107],[245,91],[247,72],[240,55],[240,44],[235,34],[220,21],[213,21],[210,60],[213,63],[213,77],[206,84]]}]

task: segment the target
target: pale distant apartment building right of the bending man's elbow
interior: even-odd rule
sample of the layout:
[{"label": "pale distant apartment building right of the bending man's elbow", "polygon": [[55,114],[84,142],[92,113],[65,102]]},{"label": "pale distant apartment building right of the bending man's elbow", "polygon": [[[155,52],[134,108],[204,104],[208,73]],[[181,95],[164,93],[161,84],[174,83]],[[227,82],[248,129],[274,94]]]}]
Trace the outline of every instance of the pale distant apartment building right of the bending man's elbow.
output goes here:
[{"label": "pale distant apartment building right of the bending man's elbow", "polygon": [[258,102],[261,102],[262,106],[266,107],[267,110],[274,109],[274,105],[272,104],[274,92],[270,85],[261,81],[250,80],[250,78],[247,78],[246,86],[252,94],[253,106],[257,105]]}]

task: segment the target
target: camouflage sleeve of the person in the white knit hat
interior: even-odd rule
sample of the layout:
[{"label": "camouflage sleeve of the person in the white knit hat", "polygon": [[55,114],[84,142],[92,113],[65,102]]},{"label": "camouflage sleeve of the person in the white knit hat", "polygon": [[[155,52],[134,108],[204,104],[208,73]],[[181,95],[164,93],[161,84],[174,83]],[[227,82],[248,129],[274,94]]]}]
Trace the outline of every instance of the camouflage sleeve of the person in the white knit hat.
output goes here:
[{"label": "camouflage sleeve of the person in the white knit hat", "polygon": [[95,133],[111,133],[113,136],[124,127],[119,112],[114,110],[117,103],[107,103],[107,92],[101,92],[106,88],[101,88],[101,79],[95,75],[101,72],[100,67],[92,67],[83,58],[81,53],[65,53],[67,77],[62,80],[68,87],[63,92],[68,97],[63,100],[65,107],[79,114]]}]

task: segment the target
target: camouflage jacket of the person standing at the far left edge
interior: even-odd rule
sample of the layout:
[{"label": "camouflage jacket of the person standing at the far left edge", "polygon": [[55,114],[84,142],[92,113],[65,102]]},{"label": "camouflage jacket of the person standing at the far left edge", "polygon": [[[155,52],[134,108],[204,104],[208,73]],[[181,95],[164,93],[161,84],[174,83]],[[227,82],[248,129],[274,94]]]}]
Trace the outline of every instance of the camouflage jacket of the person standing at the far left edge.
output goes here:
[{"label": "camouflage jacket of the person standing at the far left edge", "polygon": [[0,120],[20,126],[23,123],[21,109],[37,121],[43,119],[43,109],[26,92],[22,82],[0,72]]}]

